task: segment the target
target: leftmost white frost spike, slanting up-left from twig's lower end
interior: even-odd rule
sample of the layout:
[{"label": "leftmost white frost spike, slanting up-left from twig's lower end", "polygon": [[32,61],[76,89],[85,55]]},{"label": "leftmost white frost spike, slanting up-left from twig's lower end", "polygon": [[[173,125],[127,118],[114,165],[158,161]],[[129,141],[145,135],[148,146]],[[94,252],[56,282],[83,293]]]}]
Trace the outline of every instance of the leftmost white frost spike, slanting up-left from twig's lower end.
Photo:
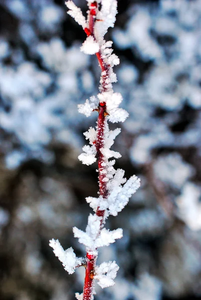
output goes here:
[{"label": "leftmost white frost spike, slanting up-left from twig's lower end", "polygon": [[76,257],[72,247],[64,250],[59,240],[54,238],[50,240],[50,246],[53,248],[55,256],[62,262],[64,269],[69,273],[74,273],[76,267],[84,261],[82,257]]}]

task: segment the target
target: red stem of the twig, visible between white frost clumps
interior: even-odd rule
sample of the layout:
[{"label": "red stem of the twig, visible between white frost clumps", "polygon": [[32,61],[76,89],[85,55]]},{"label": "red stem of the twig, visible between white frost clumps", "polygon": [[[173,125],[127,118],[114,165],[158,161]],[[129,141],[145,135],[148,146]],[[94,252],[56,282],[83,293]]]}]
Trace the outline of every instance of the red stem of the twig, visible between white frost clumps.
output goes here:
[{"label": "red stem of the twig, visible between white frost clumps", "polygon": [[[89,14],[89,28],[85,28],[84,31],[86,34],[93,35],[94,36],[94,24],[96,20],[96,9],[97,9],[97,2],[94,1],[90,5],[92,8],[90,8],[90,14]],[[95,37],[94,37],[95,38]],[[106,82],[105,79],[108,77],[109,72],[109,65],[105,63],[105,61],[102,58],[101,51],[96,53],[96,56],[98,58],[100,67],[102,72],[105,71],[105,74],[102,76],[103,82],[102,82],[102,90],[106,91]],[[105,129],[105,115],[106,115],[106,103],[100,102],[99,103],[99,109],[98,109],[98,122],[97,122],[97,137],[96,137],[96,151],[97,151],[97,158],[98,158],[98,179],[99,179],[99,194],[106,198],[108,196],[108,190],[107,190],[107,184],[104,180],[106,174],[103,172],[105,169],[104,162],[105,157],[103,153],[101,152],[101,148],[104,147],[104,129]],[[98,216],[101,216],[101,224],[100,224],[100,230],[103,225],[103,218],[104,218],[105,210],[100,210],[99,207],[97,208],[96,214]],[[96,255],[91,255],[89,252],[87,252],[86,255],[86,272],[85,272],[85,282],[84,282],[84,289],[83,289],[83,300],[91,300],[93,295],[93,276],[94,276],[94,270],[96,266]]]}]

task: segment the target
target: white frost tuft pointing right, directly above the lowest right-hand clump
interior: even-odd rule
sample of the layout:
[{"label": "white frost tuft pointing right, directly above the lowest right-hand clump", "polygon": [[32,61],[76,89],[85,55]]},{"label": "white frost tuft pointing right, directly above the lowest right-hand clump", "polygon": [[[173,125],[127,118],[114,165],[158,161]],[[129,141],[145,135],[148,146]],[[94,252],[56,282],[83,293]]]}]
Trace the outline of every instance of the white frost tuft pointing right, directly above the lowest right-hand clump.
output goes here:
[{"label": "white frost tuft pointing right, directly above the lowest right-hand clump", "polygon": [[115,242],[115,239],[121,238],[122,236],[123,236],[123,231],[121,228],[112,231],[103,228],[95,240],[96,247],[109,246],[109,244]]}]

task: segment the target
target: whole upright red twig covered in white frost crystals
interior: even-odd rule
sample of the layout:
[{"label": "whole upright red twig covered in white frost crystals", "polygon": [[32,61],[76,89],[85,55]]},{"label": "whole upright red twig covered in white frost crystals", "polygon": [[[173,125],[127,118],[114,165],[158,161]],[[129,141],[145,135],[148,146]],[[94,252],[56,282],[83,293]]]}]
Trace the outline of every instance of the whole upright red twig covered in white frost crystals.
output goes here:
[{"label": "whole upright red twig covered in white frost crystals", "polygon": [[121,157],[119,152],[111,150],[114,138],[120,133],[120,128],[109,130],[107,121],[123,122],[128,113],[119,104],[122,96],[118,92],[113,92],[112,82],[116,82],[116,74],[113,66],[119,63],[119,58],[112,54],[112,41],[105,41],[104,35],[109,27],[114,26],[117,13],[117,0],[97,0],[88,2],[88,17],[82,14],[73,1],[66,2],[69,8],[68,13],[83,27],[87,38],[81,46],[81,51],[85,54],[96,54],[100,67],[100,93],[97,97],[92,96],[87,99],[85,104],[79,104],[78,110],[87,117],[93,112],[98,111],[96,129],[90,127],[84,132],[89,145],[83,147],[84,153],[79,155],[79,159],[87,165],[98,160],[98,180],[99,197],[87,197],[86,200],[94,210],[94,214],[88,217],[86,231],[77,227],[73,228],[74,236],[80,243],[86,246],[86,257],[78,258],[72,247],[64,250],[58,240],[52,239],[50,246],[54,253],[59,257],[69,274],[73,273],[79,266],[85,266],[85,282],[83,294],[76,293],[77,299],[92,300],[95,294],[94,280],[102,287],[114,284],[114,278],[118,270],[115,261],[103,262],[96,265],[98,248],[108,246],[122,237],[122,229],[117,228],[110,231],[104,228],[106,218],[111,214],[116,216],[127,204],[129,197],[139,187],[139,178],[135,175],[128,180],[124,178],[124,170],[114,168],[115,160],[110,158]]}]

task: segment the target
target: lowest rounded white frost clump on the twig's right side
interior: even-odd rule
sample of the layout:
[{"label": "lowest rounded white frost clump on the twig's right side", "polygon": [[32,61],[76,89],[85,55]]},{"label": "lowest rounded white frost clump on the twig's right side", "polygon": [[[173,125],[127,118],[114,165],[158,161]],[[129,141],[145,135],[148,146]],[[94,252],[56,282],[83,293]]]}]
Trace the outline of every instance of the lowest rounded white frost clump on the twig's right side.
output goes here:
[{"label": "lowest rounded white frost clump on the twig's right side", "polygon": [[116,277],[119,266],[116,261],[103,262],[96,267],[94,278],[98,280],[98,284],[104,288],[115,284],[114,278]]}]

